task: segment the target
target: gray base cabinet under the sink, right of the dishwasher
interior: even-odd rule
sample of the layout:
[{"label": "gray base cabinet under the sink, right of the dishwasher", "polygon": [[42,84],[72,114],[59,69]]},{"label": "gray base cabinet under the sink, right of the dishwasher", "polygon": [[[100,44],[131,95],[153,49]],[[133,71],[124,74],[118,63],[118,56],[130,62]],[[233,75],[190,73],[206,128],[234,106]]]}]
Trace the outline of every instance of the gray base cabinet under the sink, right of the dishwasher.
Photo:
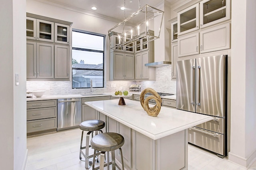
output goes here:
[{"label": "gray base cabinet under the sink, right of the dishwasher", "polygon": [[90,106],[87,106],[86,104],[84,104],[84,102],[92,102],[92,101],[99,101],[99,100],[110,100],[110,96],[82,98],[82,121],[97,118],[95,109],[93,109]]}]

